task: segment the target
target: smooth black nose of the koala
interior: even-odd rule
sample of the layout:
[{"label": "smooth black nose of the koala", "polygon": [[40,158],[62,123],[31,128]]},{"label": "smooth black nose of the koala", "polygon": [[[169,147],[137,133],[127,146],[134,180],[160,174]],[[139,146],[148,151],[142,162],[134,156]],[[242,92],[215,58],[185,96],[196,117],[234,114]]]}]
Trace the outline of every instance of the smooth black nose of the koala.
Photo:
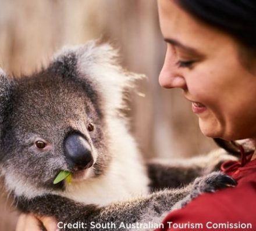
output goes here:
[{"label": "smooth black nose of the koala", "polygon": [[90,168],[93,165],[91,146],[83,136],[70,134],[64,140],[65,156],[74,171]]}]

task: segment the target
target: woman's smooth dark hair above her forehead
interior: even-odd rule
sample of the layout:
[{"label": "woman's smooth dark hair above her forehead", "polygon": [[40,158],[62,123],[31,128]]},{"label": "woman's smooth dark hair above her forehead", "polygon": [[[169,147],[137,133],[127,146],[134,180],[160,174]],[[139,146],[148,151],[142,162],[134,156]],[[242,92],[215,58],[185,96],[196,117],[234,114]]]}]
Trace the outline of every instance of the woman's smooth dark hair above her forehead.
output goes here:
[{"label": "woman's smooth dark hair above her forehead", "polygon": [[256,50],[256,0],[176,0],[194,17]]}]

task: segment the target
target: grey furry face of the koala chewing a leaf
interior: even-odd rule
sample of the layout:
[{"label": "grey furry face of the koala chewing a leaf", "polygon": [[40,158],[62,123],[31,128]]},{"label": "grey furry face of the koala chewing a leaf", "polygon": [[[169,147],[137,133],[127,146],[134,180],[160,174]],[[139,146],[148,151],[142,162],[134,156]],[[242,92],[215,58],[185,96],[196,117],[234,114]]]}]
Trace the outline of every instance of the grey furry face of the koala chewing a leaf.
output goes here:
[{"label": "grey furry face of the koala chewing a leaf", "polygon": [[69,53],[15,81],[1,132],[1,165],[9,184],[64,190],[63,181],[53,183],[61,170],[72,172],[73,181],[86,181],[108,168],[105,104],[111,99],[95,77],[81,76],[78,62]]}]

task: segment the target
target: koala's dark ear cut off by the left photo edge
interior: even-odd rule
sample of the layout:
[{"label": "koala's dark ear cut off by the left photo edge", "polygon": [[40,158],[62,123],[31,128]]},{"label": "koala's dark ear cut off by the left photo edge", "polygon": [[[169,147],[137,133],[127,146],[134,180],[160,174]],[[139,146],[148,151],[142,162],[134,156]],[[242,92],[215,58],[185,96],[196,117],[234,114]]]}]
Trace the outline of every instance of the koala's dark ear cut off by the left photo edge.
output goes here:
[{"label": "koala's dark ear cut off by the left photo edge", "polygon": [[8,76],[0,68],[0,137],[2,133],[3,116],[12,91],[12,84]]}]

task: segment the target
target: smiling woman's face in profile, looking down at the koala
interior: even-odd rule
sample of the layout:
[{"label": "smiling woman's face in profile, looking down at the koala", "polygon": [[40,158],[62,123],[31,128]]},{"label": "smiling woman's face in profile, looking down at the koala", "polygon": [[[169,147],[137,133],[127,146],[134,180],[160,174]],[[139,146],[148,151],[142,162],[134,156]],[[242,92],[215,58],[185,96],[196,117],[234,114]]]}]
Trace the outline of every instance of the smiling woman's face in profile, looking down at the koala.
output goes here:
[{"label": "smiling woman's face in profile, looking down at the koala", "polygon": [[204,135],[255,138],[256,76],[240,63],[239,44],[172,0],[158,0],[158,8],[167,42],[161,86],[183,89]]}]

